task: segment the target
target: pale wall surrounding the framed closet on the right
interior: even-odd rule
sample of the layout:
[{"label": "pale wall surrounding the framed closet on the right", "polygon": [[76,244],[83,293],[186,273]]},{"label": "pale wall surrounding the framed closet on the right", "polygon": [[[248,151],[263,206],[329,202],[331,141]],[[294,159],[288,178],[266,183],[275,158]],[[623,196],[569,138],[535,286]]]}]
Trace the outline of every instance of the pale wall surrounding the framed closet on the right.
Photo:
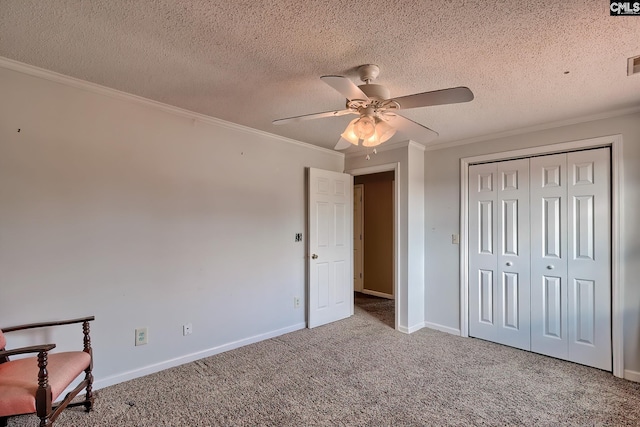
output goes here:
[{"label": "pale wall surrounding the framed closet on the right", "polygon": [[594,120],[425,153],[425,319],[460,328],[460,159],[482,154],[621,134],[623,138],[622,289],[624,368],[640,380],[640,114]]}]

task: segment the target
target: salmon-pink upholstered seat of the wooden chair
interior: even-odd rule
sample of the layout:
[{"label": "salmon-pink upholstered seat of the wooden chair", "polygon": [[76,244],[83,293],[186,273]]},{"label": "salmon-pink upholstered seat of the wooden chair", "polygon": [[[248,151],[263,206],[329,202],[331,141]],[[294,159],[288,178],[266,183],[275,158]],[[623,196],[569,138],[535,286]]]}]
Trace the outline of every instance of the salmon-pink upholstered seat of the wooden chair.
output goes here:
[{"label": "salmon-pink upholstered seat of the wooden chair", "polygon": [[[91,356],[84,351],[49,354],[47,371],[52,402],[90,363]],[[0,417],[36,411],[39,371],[37,357],[0,364]]]}]

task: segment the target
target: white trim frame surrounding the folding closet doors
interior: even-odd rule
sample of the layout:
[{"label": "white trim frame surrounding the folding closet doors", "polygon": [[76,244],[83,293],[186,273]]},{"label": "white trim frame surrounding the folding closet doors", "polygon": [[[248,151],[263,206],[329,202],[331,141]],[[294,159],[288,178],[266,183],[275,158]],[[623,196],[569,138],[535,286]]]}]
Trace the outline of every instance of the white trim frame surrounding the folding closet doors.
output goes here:
[{"label": "white trim frame surrounding the folding closet doors", "polygon": [[611,148],[611,350],[613,375],[624,378],[624,297],[621,266],[622,135],[581,139],[460,159],[460,336],[469,336],[469,165],[581,149]]}]

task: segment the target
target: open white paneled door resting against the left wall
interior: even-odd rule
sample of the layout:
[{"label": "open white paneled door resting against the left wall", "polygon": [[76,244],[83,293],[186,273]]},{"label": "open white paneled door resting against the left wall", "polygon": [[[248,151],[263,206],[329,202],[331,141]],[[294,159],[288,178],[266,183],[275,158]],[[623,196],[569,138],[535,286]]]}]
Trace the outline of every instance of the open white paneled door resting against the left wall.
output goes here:
[{"label": "open white paneled door resting against the left wall", "polygon": [[353,314],[353,177],[309,169],[309,328]]}]

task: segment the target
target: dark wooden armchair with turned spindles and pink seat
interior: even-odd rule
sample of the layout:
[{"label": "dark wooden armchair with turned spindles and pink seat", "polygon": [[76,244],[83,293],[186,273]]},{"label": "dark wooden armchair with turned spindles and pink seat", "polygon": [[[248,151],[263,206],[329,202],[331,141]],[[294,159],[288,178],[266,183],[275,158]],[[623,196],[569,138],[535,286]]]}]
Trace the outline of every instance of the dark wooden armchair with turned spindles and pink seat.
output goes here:
[{"label": "dark wooden armchair with turned spindles and pink seat", "polygon": [[[0,330],[0,427],[6,427],[13,415],[36,413],[40,426],[51,426],[66,407],[84,405],[87,412],[93,406],[93,353],[89,337],[89,322],[93,316],[59,322],[43,322],[13,326]],[[82,323],[84,349],[49,353],[55,344],[34,345],[5,350],[4,333],[25,329]],[[9,360],[18,354],[37,353],[37,356]],[[84,371],[84,379],[64,399],[54,405],[58,396]],[[70,403],[86,388],[84,400]]]}]

